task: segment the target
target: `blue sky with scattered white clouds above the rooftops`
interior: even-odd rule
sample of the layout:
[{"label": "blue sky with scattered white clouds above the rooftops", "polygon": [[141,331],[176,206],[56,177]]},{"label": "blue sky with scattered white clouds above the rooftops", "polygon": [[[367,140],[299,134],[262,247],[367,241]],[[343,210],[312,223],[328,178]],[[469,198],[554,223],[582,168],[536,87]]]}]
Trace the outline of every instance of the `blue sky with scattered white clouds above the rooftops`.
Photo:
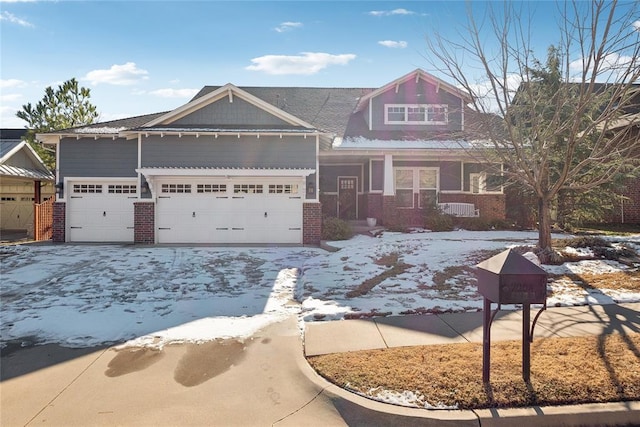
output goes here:
[{"label": "blue sky with scattered white clouds above the rooftops", "polygon": [[[72,77],[91,88],[101,121],[176,108],[204,85],[380,87],[416,68],[431,72],[425,37],[457,37],[466,7],[0,0],[1,125],[23,127],[16,111]],[[557,7],[531,3],[541,58],[559,40]]]}]

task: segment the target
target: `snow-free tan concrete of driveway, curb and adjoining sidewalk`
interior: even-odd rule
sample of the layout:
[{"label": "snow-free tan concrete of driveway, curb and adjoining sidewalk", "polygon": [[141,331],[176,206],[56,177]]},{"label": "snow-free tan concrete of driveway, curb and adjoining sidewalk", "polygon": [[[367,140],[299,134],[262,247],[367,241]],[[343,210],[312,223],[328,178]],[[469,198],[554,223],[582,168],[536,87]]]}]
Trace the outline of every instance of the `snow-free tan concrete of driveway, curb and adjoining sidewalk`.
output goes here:
[{"label": "snow-free tan concrete of driveway, curb and adjoining sidewalk", "polygon": [[[640,331],[640,303],[553,308],[535,337]],[[481,313],[308,323],[307,354],[477,341]],[[518,312],[492,326],[520,339]],[[307,364],[295,316],[251,340],[162,350],[19,349],[2,357],[4,426],[512,426],[633,425],[640,402],[482,411],[428,411],[366,399]]]}]

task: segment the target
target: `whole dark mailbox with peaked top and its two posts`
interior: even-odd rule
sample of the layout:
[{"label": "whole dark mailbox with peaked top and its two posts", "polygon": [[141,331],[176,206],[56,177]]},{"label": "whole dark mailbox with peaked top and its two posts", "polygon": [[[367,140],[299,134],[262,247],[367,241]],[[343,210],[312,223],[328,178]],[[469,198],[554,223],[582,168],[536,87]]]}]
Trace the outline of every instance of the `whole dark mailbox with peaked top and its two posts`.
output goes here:
[{"label": "whole dark mailbox with peaked top and its two posts", "polygon": [[[482,321],[482,381],[489,382],[491,323],[502,304],[522,304],[522,378],[530,379],[530,344],[538,316],[547,305],[547,273],[522,255],[507,249],[479,263],[478,292],[484,297]],[[491,315],[491,303],[497,303]],[[530,328],[531,304],[543,304]]]}]

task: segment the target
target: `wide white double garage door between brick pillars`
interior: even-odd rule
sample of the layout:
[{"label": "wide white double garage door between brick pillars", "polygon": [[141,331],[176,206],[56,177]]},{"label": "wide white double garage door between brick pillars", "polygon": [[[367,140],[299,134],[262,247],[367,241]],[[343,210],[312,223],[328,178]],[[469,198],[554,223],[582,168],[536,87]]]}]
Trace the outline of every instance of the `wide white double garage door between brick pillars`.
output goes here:
[{"label": "wide white double garage door between brick pillars", "polygon": [[302,243],[301,178],[167,180],[159,243]]}]

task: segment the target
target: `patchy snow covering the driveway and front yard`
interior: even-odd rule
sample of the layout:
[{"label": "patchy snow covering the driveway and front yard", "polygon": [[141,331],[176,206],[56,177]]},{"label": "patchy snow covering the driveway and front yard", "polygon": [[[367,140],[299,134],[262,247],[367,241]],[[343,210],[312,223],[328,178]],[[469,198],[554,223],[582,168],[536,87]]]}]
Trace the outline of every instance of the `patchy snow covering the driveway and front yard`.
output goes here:
[{"label": "patchy snow covering the driveway and front yard", "polygon": [[[301,321],[345,316],[476,311],[468,270],[479,251],[535,244],[532,232],[384,233],[331,242],[339,248],[216,248],[134,245],[0,247],[0,345],[58,343],[162,346],[246,338],[291,314]],[[408,264],[368,293],[347,293]],[[480,255],[486,255],[481,253]],[[611,261],[544,266],[549,272],[619,271]],[[436,280],[436,276],[444,279]],[[548,304],[640,301],[640,293],[550,284]]]}]

